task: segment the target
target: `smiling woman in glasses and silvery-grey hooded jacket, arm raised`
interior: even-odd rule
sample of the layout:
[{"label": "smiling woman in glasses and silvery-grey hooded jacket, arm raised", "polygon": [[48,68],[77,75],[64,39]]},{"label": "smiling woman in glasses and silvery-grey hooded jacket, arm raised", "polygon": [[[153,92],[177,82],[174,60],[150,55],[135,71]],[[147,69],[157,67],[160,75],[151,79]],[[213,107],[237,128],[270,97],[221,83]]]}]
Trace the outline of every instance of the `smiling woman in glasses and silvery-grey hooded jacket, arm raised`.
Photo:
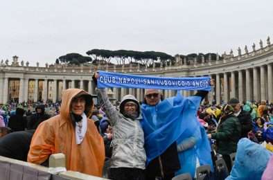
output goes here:
[{"label": "smiling woman in glasses and silvery-grey hooded jacket, arm raised", "polygon": [[[98,73],[92,77],[94,82]],[[112,105],[105,89],[96,89],[98,102],[103,107],[112,125],[112,158],[109,179],[144,179],[146,152],[144,133],[139,120],[141,109],[139,102],[132,95],[126,95],[119,105],[120,111]]]}]

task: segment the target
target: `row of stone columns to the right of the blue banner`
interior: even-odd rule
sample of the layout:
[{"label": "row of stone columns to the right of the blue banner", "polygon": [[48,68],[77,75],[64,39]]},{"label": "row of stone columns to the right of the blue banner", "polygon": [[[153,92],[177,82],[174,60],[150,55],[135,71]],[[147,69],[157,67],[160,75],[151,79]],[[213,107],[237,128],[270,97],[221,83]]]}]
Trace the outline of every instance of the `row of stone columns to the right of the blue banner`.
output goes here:
[{"label": "row of stone columns to the right of the blue banner", "polygon": [[218,104],[233,97],[240,102],[273,100],[272,64],[217,73],[211,77],[215,79],[214,99]]}]

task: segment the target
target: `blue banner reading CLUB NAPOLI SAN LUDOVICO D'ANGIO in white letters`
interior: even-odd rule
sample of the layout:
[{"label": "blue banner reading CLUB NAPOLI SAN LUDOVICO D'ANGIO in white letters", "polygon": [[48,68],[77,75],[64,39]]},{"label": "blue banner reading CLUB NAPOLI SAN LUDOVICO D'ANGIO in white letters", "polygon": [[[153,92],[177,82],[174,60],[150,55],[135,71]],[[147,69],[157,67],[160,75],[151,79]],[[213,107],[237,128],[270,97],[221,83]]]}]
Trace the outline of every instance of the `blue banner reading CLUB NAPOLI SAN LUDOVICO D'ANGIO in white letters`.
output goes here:
[{"label": "blue banner reading CLUB NAPOLI SAN LUDOVICO D'ANGIO in white letters", "polygon": [[98,71],[98,88],[121,87],[135,89],[206,90],[211,91],[210,77],[164,78]]}]

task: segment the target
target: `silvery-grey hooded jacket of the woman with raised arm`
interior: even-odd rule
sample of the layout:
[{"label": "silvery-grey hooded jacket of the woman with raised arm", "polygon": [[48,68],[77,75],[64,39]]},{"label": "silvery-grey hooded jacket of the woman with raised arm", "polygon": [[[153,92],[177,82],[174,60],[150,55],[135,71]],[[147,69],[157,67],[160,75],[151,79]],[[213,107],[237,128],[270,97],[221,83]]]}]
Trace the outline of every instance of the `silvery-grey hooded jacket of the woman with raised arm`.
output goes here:
[{"label": "silvery-grey hooded jacket of the woman with raised arm", "polygon": [[[96,89],[98,101],[107,114],[113,127],[112,158],[110,168],[140,168],[145,169],[146,152],[144,150],[144,133],[139,120],[141,117],[139,102],[132,95],[126,95],[121,100],[119,108],[109,102],[105,89]],[[138,118],[132,120],[123,116],[125,102],[133,101],[137,105]]]}]

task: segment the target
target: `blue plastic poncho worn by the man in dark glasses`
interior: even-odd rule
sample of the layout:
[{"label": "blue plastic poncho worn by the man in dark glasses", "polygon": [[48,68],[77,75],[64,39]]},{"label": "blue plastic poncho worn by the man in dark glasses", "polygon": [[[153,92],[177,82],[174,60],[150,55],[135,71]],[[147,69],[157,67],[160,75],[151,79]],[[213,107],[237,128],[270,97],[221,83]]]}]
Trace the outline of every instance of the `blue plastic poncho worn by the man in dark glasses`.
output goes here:
[{"label": "blue plastic poncho worn by the man in dark glasses", "polygon": [[210,164],[213,169],[211,147],[206,132],[196,118],[200,100],[200,96],[184,98],[178,91],[175,97],[159,102],[156,106],[146,104],[141,106],[146,165],[175,141],[179,144],[189,136],[196,136],[199,141],[195,147],[178,154],[182,169],[176,174],[184,173],[186,170],[194,177],[196,156],[200,159],[201,165]]}]

